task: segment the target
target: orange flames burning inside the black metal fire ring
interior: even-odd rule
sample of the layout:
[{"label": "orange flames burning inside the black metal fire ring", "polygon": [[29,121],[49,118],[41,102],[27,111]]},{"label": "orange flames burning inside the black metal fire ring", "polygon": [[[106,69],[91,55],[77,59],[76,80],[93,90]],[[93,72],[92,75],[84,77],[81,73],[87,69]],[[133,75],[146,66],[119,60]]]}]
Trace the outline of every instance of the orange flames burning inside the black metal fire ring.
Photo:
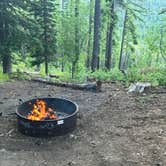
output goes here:
[{"label": "orange flames burning inside the black metal fire ring", "polygon": [[27,115],[27,119],[30,120],[45,120],[45,119],[56,119],[57,115],[54,113],[52,108],[46,107],[46,102],[43,100],[37,100],[33,105],[33,110]]}]

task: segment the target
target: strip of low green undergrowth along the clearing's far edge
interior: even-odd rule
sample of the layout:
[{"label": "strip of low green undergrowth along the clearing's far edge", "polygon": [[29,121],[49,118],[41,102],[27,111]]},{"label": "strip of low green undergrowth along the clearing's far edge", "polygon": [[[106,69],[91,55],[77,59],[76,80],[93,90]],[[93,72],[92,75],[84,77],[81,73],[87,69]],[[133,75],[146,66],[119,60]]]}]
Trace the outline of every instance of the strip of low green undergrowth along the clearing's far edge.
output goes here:
[{"label": "strip of low green undergrowth along the clearing's far edge", "polygon": [[[23,63],[19,65],[13,65],[14,74],[10,76],[6,74],[2,74],[0,68],[0,82],[8,81],[10,78],[20,78],[21,80],[27,79],[26,75],[23,74],[23,71],[34,71],[35,67],[26,66]],[[19,69],[19,72],[17,71]],[[86,81],[86,77],[95,77],[99,80],[106,81],[123,81],[126,83],[128,87],[131,82],[150,82],[153,86],[166,86],[166,68],[158,67],[158,68],[150,68],[146,67],[144,69],[138,67],[132,67],[127,70],[127,73],[124,75],[118,68],[113,68],[110,71],[97,70],[94,73],[87,71],[83,66],[79,66],[77,69],[77,73],[75,73],[75,78],[71,78],[71,67],[66,66],[65,72],[62,72],[60,68],[56,68],[54,65],[49,65],[49,73],[59,76],[59,81],[64,82],[75,82],[81,83]],[[41,64],[40,70],[41,77],[45,77],[45,68],[44,64]]]}]

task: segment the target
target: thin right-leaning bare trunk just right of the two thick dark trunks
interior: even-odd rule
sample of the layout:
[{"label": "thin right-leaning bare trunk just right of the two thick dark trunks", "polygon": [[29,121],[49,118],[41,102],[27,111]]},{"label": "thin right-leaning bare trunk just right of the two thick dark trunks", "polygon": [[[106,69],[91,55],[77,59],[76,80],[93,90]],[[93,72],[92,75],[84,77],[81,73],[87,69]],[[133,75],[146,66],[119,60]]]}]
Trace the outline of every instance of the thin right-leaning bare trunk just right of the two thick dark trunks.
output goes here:
[{"label": "thin right-leaning bare trunk just right of the two thick dark trunks", "polygon": [[120,48],[120,59],[119,59],[119,70],[123,71],[123,66],[122,66],[122,58],[123,58],[123,47],[124,47],[124,39],[126,35],[126,23],[127,23],[127,10],[125,12],[125,17],[124,17],[124,24],[123,24],[123,32],[122,32],[122,41],[121,41],[121,48]]}]

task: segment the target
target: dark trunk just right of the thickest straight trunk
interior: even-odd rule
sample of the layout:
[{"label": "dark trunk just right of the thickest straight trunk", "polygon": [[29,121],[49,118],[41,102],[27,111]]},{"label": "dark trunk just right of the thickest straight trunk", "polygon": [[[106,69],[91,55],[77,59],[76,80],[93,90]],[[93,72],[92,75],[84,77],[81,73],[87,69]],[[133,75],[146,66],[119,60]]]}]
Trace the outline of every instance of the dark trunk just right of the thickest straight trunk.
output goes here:
[{"label": "dark trunk just right of the thickest straight trunk", "polygon": [[112,57],[112,41],[113,41],[113,30],[114,30],[114,0],[110,2],[110,23],[107,30],[107,41],[106,41],[106,53],[105,53],[105,67],[106,69],[111,68],[111,57]]}]

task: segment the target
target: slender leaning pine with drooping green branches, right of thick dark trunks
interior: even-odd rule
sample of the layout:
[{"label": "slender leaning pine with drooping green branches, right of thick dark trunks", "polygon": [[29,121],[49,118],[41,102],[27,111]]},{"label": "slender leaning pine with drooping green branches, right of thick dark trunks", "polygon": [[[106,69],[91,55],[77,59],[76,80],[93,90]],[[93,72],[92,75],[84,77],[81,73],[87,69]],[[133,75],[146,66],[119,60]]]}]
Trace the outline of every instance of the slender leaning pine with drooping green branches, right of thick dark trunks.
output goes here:
[{"label": "slender leaning pine with drooping green branches, right of thick dark trunks", "polygon": [[125,10],[119,59],[119,70],[121,71],[124,71],[129,65],[130,53],[134,52],[133,45],[138,44],[135,20],[142,21],[141,14],[145,12],[145,9],[141,4],[141,0],[138,0],[137,3],[134,0],[121,1],[121,6]]}]

